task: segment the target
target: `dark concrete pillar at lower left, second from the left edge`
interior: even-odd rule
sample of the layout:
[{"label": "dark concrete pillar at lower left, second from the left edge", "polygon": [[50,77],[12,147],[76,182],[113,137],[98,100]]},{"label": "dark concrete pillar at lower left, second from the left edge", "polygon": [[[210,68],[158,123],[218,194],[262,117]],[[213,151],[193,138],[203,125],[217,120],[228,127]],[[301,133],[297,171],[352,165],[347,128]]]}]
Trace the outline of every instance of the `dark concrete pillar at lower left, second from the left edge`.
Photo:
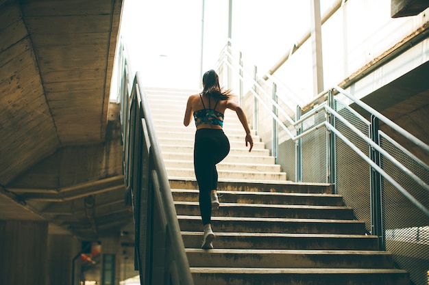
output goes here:
[{"label": "dark concrete pillar at lower left, second from the left edge", "polygon": [[50,234],[48,238],[49,285],[71,285],[73,257],[80,251],[81,243],[71,235]]}]

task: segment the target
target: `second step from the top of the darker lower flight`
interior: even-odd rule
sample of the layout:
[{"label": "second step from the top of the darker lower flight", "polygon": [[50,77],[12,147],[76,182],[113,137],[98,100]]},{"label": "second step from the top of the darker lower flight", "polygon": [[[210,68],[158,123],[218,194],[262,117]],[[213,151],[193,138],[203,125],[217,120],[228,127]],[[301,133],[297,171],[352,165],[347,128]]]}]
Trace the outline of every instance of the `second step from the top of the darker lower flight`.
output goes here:
[{"label": "second step from the top of the darker lower flight", "polygon": [[[175,201],[198,202],[197,189],[171,189]],[[343,206],[341,195],[275,193],[256,191],[217,191],[221,203],[257,203],[281,205]]]}]

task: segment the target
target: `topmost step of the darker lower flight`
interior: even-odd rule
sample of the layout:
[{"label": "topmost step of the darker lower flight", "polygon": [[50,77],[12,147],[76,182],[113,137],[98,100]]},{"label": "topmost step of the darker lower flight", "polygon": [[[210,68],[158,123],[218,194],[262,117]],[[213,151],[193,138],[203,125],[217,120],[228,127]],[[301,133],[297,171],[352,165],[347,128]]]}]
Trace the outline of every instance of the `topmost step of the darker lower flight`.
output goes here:
[{"label": "topmost step of the darker lower flight", "polygon": [[[195,180],[170,179],[171,189],[198,189]],[[291,181],[225,181],[220,180],[217,189],[223,191],[275,192],[275,193],[314,193],[332,194],[333,186],[325,183],[299,183]]]}]

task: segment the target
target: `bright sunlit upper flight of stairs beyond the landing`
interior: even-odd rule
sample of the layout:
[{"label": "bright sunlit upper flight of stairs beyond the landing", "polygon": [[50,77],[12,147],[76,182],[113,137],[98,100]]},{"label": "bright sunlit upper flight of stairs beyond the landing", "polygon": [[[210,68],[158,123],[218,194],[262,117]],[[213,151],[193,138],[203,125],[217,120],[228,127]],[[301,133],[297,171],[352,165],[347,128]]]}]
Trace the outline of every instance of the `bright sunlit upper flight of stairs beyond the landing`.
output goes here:
[{"label": "bright sunlit upper flight of stairs beyond the landing", "polygon": [[[195,124],[183,125],[186,101],[198,90],[145,89],[156,125],[167,174],[171,179],[195,180],[193,147]],[[274,164],[259,137],[253,133],[254,148],[249,153],[245,146],[245,131],[236,114],[225,112],[225,134],[230,139],[228,157],[217,165],[219,180],[286,181],[286,173]]]}]

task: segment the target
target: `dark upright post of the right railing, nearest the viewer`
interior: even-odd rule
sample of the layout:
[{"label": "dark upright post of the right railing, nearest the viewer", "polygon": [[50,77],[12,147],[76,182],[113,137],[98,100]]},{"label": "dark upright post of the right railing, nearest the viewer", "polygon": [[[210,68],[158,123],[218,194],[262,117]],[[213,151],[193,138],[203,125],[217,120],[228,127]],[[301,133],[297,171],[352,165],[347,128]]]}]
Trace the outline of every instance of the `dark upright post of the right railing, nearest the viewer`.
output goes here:
[{"label": "dark upright post of the right railing, nearest the viewer", "polygon": [[[371,140],[380,145],[378,139],[379,121],[374,115],[371,115],[370,136]],[[370,147],[371,160],[381,167],[380,152]],[[378,236],[378,245],[380,250],[385,250],[384,231],[382,218],[382,191],[381,176],[376,169],[371,167],[371,233]]]}]

